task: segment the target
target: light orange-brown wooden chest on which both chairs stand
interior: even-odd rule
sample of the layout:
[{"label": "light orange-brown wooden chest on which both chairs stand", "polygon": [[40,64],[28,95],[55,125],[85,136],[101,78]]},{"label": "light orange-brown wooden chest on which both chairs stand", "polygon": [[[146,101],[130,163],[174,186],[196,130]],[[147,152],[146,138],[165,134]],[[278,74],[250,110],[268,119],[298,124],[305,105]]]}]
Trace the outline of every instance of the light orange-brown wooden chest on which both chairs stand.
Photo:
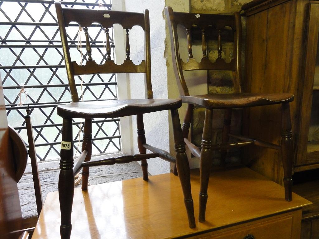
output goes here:
[{"label": "light orange-brown wooden chest on which both chairs stand", "polygon": [[[192,171],[198,216],[198,170]],[[248,168],[212,172],[206,222],[189,228],[178,177],[171,173],[75,189],[71,238],[300,238],[301,207],[310,202]],[[45,200],[33,239],[60,238],[58,192]],[[247,237],[249,239],[253,237]]]}]

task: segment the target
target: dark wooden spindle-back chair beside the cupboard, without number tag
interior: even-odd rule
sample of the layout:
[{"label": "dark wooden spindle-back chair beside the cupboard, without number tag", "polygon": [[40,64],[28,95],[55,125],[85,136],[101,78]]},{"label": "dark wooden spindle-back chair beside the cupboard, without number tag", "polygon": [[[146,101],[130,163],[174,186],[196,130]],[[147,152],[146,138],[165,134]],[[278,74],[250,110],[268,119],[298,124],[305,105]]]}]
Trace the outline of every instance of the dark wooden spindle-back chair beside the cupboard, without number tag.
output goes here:
[{"label": "dark wooden spindle-back chair beside the cupboard, without number tag", "polygon": [[[182,102],[188,104],[187,112],[182,126],[183,137],[186,145],[194,156],[200,159],[200,193],[199,193],[199,221],[205,221],[205,208],[207,203],[207,186],[211,168],[213,150],[221,151],[221,162],[225,161],[226,150],[233,147],[255,144],[258,146],[281,150],[284,166],[285,198],[292,200],[292,131],[289,111],[289,102],[293,101],[293,95],[241,93],[241,17],[238,12],[234,15],[199,14],[174,12],[171,7],[165,8],[168,26],[171,34],[171,46],[174,72],[179,86]],[[180,57],[177,25],[186,29],[188,62],[183,62]],[[230,28],[231,30],[230,30]],[[234,42],[233,59],[225,62],[222,59],[222,38]],[[218,42],[218,58],[211,62],[207,58],[207,38],[211,37]],[[202,44],[203,58],[197,62],[192,54],[192,39]],[[225,40],[224,39],[224,40]],[[233,72],[233,83],[236,93],[231,94],[204,94],[190,95],[183,71],[189,70],[228,70]],[[262,73],[261,73],[262,74]],[[229,134],[232,108],[242,108],[261,105],[282,104],[281,145],[276,145],[261,140]],[[194,105],[205,108],[205,120],[202,139],[202,148],[199,150],[187,140]],[[225,109],[225,120],[222,131],[222,143],[212,144],[212,116],[213,109]],[[265,125],[264,127],[267,127]],[[271,130],[271,129],[270,129]],[[229,136],[240,141],[228,142]]]}]

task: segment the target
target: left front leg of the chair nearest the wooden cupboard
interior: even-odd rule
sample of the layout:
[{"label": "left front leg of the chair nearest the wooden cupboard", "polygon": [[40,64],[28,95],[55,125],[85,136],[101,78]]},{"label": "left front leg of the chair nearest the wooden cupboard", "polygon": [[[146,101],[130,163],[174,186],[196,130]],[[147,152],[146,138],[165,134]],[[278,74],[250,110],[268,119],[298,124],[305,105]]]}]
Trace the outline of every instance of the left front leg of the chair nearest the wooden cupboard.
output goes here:
[{"label": "left front leg of the chair nearest the wooden cupboard", "polygon": [[212,116],[213,110],[205,110],[204,131],[202,139],[202,150],[200,153],[200,192],[199,192],[199,217],[198,221],[205,221],[205,211],[207,203],[207,188],[209,182],[209,174],[211,170],[211,157],[212,157]]}]

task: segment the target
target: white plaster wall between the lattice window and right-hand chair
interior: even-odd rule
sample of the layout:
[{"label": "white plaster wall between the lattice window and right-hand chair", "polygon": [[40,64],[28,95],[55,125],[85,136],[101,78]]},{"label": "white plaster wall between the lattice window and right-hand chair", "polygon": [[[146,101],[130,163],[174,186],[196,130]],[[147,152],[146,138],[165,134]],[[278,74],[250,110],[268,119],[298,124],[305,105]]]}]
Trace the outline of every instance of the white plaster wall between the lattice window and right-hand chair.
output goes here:
[{"label": "white plaster wall between the lattice window and right-hand chair", "polygon": [[[162,11],[165,6],[164,0],[124,0],[125,11],[143,12],[148,9],[150,13],[151,29],[151,71],[152,88],[154,98],[167,98],[167,70],[166,60],[164,59],[165,50],[165,21]],[[130,31],[131,59],[134,63],[139,63],[144,57],[144,32],[139,27],[134,27]],[[129,75],[130,98],[145,97],[144,75]],[[138,153],[136,116],[131,117],[132,153]],[[145,136],[147,143],[158,148],[169,151],[169,126],[168,112],[155,112],[144,115]],[[125,136],[125,135],[124,135]],[[148,171],[150,174],[161,174],[170,171],[170,164],[162,159],[155,158],[148,160]]]}]

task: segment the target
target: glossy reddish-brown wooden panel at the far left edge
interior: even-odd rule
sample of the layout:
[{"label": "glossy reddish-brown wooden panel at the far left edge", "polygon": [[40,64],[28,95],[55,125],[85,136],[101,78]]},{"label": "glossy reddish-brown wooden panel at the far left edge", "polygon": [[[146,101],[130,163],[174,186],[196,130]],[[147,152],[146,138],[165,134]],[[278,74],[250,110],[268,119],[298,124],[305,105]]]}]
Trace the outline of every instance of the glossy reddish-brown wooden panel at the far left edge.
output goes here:
[{"label": "glossy reddish-brown wooden panel at the far left edge", "polygon": [[9,141],[2,81],[0,77],[0,237],[18,238],[13,231],[22,229],[22,215],[18,186]]}]

